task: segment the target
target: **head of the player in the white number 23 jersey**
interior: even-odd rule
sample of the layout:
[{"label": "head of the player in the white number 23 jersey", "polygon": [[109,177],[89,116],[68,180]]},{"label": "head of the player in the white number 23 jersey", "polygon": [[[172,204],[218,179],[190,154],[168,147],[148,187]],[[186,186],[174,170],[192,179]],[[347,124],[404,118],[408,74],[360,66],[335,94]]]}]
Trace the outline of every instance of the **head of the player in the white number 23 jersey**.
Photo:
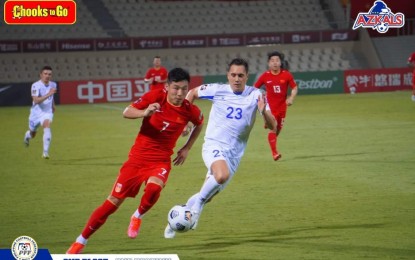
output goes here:
[{"label": "head of the player in the white number 23 jersey", "polygon": [[245,90],[248,69],[248,62],[241,58],[235,58],[228,64],[228,82],[235,94],[240,94]]}]

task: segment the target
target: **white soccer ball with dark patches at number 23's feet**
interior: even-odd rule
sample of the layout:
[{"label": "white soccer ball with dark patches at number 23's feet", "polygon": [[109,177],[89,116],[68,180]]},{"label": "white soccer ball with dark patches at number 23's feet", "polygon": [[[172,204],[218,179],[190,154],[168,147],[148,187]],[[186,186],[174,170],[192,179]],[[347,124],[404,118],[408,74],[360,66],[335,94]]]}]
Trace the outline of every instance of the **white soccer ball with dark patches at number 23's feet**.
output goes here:
[{"label": "white soccer ball with dark patches at number 23's feet", "polygon": [[176,205],[169,211],[167,221],[174,231],[187,232],[193,224],[192,213],[186,205]]}]

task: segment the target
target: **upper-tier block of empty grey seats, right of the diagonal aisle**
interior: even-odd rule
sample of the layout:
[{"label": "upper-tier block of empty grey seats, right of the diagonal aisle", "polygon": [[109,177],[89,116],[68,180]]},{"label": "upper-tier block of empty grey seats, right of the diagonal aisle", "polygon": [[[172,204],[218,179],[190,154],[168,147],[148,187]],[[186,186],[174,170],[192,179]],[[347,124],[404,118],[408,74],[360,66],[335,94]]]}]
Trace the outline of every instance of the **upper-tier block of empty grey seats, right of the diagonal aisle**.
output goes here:
[{"label": "upper-tier block of empty grey seats, right of the diagonal aisle", "polygon": [[330,29],[318,0],[102,1],[132,37]]}]

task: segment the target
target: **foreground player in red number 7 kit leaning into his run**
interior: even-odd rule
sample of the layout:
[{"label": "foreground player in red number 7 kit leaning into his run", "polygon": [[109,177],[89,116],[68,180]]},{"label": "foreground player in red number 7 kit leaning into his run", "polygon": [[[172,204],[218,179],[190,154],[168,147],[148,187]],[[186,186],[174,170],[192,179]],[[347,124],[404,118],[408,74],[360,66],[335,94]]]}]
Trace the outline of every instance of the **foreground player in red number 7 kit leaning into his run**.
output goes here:
[{"label": "foreground player in red number 7 kit leaning into his run", "polygon": [[125,118],[143,118],[140,131],[120,169],[111,194],[90,216],[84,230],[66,252],[79,254],[89,237],[97,231],[127,197],[135,197],[144,183],[140,205],[131,216],[127,234],[138,235],[142,216],[157,202],[171,170],[171,155],[183,128],[195,125],[185,145],[177,152],[174,165],[181,165],[202,130],[200,109],[185,99],[189,90],[189,73],[175,68],[168,74],[166,89],[146,93],[128,106]]}]

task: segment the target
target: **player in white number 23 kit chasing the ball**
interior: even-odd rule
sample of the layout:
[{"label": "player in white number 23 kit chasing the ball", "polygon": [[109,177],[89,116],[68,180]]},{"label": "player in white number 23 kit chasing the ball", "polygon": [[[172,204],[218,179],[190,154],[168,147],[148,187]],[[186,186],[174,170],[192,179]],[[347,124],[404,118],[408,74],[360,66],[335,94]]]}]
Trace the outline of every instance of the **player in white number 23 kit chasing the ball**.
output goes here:
[{"label": "player in white number 23 kit chasing the ball", "polygon": [[[245,152],[257,110],[269,129],[276,121],[259,89],[246,86],[248,63],[236,58],[228,65],[228,84],[205,84],[189,91],[187,99],[207,99],[213,102],[206,128],[202,157],[208,169],[200,191],[186,203],[192,213],[195,229],[205,203],[223,190],[235,174]],[[176,232],[167,225],[165,238]]]}]

